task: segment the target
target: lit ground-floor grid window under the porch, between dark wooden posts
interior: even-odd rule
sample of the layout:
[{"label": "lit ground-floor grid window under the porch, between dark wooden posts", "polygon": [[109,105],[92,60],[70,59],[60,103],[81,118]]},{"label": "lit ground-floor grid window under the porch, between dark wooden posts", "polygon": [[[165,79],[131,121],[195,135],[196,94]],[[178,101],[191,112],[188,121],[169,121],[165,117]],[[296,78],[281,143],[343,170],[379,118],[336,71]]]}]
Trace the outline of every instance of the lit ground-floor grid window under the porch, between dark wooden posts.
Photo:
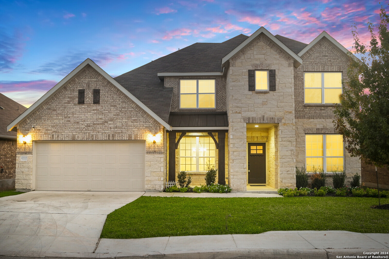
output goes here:
[{"label": "lit ground-floor grid window under the porch, between dark wooden posts", "polygon": [[206,172],[215,165],[215,142],[211,137],[183,137],[179,145],[180,171]]}]

